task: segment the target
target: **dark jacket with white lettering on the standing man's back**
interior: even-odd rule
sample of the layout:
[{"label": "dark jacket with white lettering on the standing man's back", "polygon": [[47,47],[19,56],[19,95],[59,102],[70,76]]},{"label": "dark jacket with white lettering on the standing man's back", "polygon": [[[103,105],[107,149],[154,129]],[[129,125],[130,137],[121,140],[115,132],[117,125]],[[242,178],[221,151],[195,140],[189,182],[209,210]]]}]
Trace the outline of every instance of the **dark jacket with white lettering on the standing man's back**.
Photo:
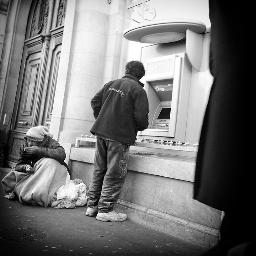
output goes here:
[{"label": "dark jacket with white lettering on the standing man's back", "polygon": [[138,130],[149,124],[149,104],[143,86],[130,74],[105,84],[91,100],[96,121],[90,132],[134,144]]}]

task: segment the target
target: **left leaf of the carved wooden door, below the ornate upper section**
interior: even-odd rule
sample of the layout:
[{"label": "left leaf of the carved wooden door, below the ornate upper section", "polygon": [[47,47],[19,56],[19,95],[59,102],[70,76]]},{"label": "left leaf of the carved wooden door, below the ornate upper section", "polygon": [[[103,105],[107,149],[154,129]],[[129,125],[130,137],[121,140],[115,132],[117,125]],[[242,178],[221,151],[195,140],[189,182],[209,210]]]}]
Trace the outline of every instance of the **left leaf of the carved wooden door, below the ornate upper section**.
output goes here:
[{"label": "left leaf of the carved wooden door, below the ornate upper section", "polygon": [[[32,42],[32,41],[31,41]],[[30,42],[30,43],[31,43]],[[9,135],[8,160],[17,162],[19,149],[27,130],[37,123],[40,108],[41,78],[42,78],[42,46],[41,39],[33,40],[36,47],[29,47],[25,43],[17,93],[15,98],[14,114]],[[31,43],[31,45],[33,45]]]}]

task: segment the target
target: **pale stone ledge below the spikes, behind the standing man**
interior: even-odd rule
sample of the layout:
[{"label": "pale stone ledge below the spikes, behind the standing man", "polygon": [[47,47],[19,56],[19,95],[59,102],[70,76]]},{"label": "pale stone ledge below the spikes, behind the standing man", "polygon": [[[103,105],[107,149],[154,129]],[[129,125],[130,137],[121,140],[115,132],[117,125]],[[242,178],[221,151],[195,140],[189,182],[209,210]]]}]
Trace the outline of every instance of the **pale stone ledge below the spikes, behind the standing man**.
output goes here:
[{"label": "pale stone ledge below the spikes, behind the standing man", "polygon": [[[95,148],[71,148],[70,160],[94,163]],[[130,151],[128,170],[194,182],[196,159]]]}]

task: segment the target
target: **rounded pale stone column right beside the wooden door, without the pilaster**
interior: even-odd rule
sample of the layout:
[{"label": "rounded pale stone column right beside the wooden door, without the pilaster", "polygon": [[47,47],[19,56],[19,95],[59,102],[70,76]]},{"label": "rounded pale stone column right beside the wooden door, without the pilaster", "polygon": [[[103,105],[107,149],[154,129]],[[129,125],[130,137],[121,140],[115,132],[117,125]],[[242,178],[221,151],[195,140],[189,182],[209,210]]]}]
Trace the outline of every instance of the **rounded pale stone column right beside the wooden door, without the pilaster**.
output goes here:
[{"label": "rounded pale stone column right beside the wooden door, without the pilaster", "polygon": [[109,8],[107,1],[67,1],[50,126],[60,142],[75,143],[94,122],[90,100],[102,86]]}]

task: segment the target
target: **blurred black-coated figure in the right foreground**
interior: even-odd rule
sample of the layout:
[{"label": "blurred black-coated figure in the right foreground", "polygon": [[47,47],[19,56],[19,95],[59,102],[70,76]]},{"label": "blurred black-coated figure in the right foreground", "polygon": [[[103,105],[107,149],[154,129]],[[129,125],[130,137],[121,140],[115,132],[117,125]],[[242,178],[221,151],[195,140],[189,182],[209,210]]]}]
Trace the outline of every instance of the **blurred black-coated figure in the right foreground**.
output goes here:
[{"label": "blurred black-coated figure in the right foreground", "polygon": [[245,155],[242,144],[252,134],[245,119],[251,73],[245,62],[249,43],[242,36],[244,14],[241,2],[209,0],[214,80],[199,142],[194,199],[225,215],[219,244],[203,255],[252,255],[255,241],[252,158],[250,148]]}]

